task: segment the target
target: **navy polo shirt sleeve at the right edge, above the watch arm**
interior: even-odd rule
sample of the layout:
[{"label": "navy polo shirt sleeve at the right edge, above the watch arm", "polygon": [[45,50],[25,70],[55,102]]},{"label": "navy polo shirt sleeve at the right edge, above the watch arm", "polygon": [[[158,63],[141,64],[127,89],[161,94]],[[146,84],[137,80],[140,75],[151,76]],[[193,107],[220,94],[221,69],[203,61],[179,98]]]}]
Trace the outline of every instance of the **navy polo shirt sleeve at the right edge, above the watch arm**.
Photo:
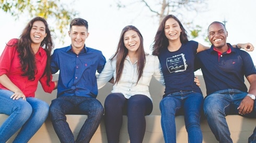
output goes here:
[{"label": "navy polo shirt sleeve at the right edge, above the watch arm", "polygon": [[245,69],[245,76],[249,76],[251,74],[256,74],[256,70],[255,70],[255,66],[253,64],[253,61],[252,61],[252,58],[251,56],[246,52],[246,51],[243,51],[243,66]]}]

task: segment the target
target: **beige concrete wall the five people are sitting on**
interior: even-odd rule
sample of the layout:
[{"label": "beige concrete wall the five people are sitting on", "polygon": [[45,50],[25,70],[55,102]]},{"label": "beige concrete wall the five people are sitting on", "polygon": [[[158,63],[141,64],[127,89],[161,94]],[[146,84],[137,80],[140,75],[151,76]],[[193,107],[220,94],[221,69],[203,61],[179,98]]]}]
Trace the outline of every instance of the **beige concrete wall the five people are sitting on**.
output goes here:
[{"label": "beige concrete wall the five people are sitting on", "polygon": [[[200,75],[201,89],[204,94],[205,93],[205,85],[203,77]],[[57,75],[54,75],[54,79],[57,79]],[[248,84],[248,83],[247,83]],[[97,99],[99,99],[103,105],[104,99],[111,92],[112,85],[108,83],[106,86],[99,90],[99,95]],[[164,94],[164,86],[159,84],[155,79],[150,82],[150,94],[153,97],[153,105],[154,109],[152,114],[146,116],[146,133],[144,136],[143,142],[148,143],[160,143],[164,142],[164,137],[162,136],[161,124],[160,124],[160,110],[159,110],[159,102],[162,99],[162,95]],[[51,100],[56,98],[56,90],[52,94],[44,93],[41,86],[39,86],[36,97],[40,98],[46,102],[51,103]],[[0,125],[5,121],[7,115],[0,114]],[[67,115],[67,122],[71,127],[74,136],[76,137],[79,133],[80,128],[82,127],[84,121],[86,120],[86,115]],[[253,129],[256,125],[255,119],[242,118],[239,115],[228,115],[227,122],[229,125],[229,129],[231,132],[231,138],[234,142],[247,142],[248,137],[252,134]],[[187,131],[184,126],[184,118],[183,116],[176,117],[176,129],[177,129],[177,142],[188,142]],[[203,142],[217,142],[214,135],[212,134],[210,128],[206,120],[201,121],[201,129],[203,132]],[[14,137],[9,139],[8,142],[11,142]],[[34,135],[29,142],[60,142],[57,138],[57,135],[54,132],[52,124],[49,119],[45,121],[39,131]],[[104,128],[104,122],[101,121],[100,126],[98,127],[95,135],[91,139],[92,143],[98,142],[107,142],[107,135]],[[120,132],[120,142],[130,142],[129,135],[127,132],[127,118],[123,116],[123,126]]]}]

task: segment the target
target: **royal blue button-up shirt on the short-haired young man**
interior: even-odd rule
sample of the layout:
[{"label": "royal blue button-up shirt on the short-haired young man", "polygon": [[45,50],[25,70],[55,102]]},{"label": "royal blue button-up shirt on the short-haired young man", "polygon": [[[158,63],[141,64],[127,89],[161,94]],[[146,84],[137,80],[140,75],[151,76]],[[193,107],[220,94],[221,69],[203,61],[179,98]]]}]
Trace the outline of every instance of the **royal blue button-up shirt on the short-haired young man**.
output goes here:
[{"label": "royal blue button-up shirt on the short-haired young man", "polygon": [[60,70],[57,97],[98,95],[96,71],[101,73],[106,63],[101,51],[84,47],[77,55],[71,46],[55,49],[51,57],[51,71]]}]

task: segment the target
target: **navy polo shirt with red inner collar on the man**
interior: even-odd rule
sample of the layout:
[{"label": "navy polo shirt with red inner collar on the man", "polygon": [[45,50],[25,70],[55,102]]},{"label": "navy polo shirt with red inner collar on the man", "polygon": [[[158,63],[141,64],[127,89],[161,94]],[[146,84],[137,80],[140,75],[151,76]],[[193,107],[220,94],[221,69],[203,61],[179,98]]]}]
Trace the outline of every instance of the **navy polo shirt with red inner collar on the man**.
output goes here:
[{"label": "navy polo shirt with red inner collar on the man", "polygon": [[218,55],[213,45],[196,54],[195,68],[201,68],[207,95],[223,89],[238,89],[247,92],[245,76],[256,74],[251,56],[244,50],[233,48]]}]

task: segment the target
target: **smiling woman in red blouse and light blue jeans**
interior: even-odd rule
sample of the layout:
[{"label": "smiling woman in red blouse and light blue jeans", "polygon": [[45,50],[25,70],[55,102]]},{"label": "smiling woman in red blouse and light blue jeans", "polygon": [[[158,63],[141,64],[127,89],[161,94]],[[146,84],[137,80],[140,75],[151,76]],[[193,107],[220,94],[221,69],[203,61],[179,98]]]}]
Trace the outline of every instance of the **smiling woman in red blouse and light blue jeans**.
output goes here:
[{"label": "smiling woman in red blouse and light blue jeans", "polygon": [[48,116],[48,103],[34,98],[38,82],[51,93],[50,55],[53,48],[48,23],[33,18],[20,38],[11,39],[0,57],[0,113],[9,115],[0,127],[1,142],[18,129],[13,142],[28,142]]}]

